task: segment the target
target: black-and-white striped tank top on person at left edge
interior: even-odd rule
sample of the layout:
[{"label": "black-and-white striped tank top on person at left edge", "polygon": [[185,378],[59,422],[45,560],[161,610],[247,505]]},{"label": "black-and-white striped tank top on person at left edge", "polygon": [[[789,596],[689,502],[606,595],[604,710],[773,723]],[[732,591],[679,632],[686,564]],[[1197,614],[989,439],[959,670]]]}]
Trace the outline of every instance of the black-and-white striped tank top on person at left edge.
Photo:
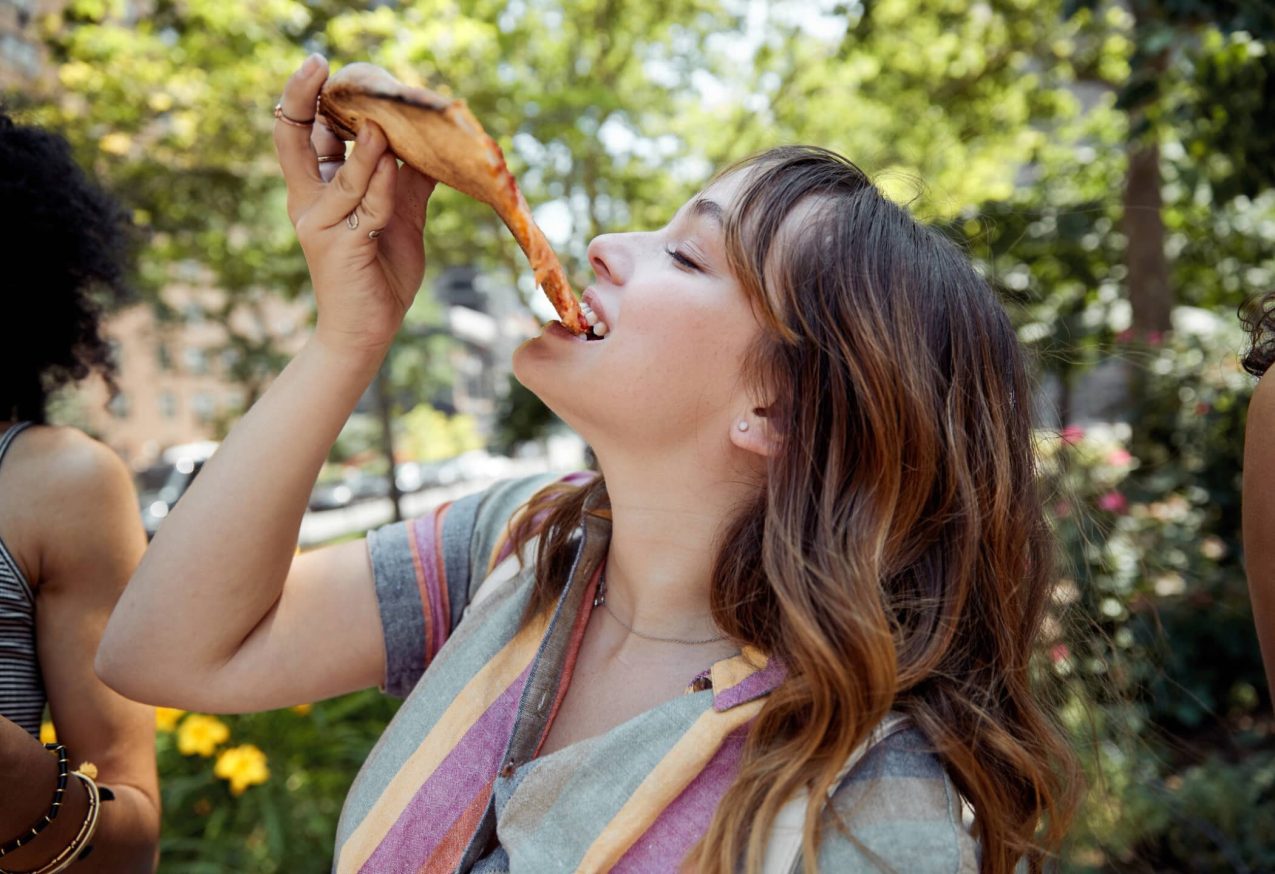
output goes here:
[{"label": "black-and-white striped tank top on person at left edge", "polygon": [[[0,462],[31,422],[0,435]],[[40,736],[45,683],[36,656],[36,593],[0,537],[0,716]]]}]

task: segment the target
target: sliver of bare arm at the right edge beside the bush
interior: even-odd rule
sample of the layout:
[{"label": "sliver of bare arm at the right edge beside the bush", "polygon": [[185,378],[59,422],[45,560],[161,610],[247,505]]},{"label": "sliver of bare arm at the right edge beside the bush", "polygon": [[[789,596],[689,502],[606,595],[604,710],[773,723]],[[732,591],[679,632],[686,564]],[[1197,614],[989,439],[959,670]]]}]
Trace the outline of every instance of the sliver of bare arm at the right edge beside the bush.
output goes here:
[{"label": "sliver of bare arm at the right edge beside the bush", "polygon": [[1243,495],[1248,596],[1266,681],[1271,685],[1275,684],[1275,380],[1271,376],[1257,385],[1248,406]]}]

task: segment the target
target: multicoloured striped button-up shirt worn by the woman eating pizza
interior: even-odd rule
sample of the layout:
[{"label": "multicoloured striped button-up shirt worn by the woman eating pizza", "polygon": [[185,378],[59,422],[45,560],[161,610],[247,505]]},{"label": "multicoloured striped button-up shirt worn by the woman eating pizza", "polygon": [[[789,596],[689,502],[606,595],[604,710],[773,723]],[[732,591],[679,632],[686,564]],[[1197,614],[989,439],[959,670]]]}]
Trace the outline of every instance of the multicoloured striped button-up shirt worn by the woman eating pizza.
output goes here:
[{"label": "multicoloured striped button-up shirt worn by the woman eating pizza", "polygon": [[[673,871],[704,834],[783,667],[751,649],[708,683],[688,666],[683,695],[538,755],[611,526],[604,501],[585,508],[556,607],[523,623],[534,570],[511,555],[509,521],[553,480],[500,484],[368,535],[385,690],[405,700],[351,787],[335,871]],[[827,829],[824,870],[878,870],[873,857],[977,870],[959,796],[914,729],[873,748],[833,804],[854,838]]]}]

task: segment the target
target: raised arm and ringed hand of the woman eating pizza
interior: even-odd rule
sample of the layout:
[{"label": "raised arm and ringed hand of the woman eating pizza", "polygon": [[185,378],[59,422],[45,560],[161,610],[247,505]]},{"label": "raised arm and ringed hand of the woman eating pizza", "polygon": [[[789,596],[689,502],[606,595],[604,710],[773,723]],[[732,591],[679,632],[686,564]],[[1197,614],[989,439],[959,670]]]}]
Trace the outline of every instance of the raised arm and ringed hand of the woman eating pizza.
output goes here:
[{"label": "raised arm and ringed hand of the woman eating pizza", "polygon": [[[283,114],[314,116],[326,64],[287,84]],[[288,213],[310,265],[314,336],[236,425],[164,521],[98,652],[124,694],[186,709],[266,709],[375,685],[380,620],[361,542],[293,558],[319,467],[411,306],[433,182],[368,125],[332,182],[330,133],[275,124]],[[330,165],[325,165],[330,166]]]}]

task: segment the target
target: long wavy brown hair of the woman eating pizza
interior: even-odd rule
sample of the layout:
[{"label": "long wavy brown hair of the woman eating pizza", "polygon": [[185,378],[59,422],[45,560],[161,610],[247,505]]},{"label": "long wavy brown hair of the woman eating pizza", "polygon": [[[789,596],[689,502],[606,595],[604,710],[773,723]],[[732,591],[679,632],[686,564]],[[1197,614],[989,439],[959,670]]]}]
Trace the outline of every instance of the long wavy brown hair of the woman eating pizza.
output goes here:
[{"label": "long wavy brown hair of the woman eating pizza", "polygon": [[[840,156],[784,147],[725,172],[746,174],[725,246],[764,323],[746,374],[782,445],[715,544],[713,616],[788,676],[687,864],[760,870],[780,806],[824,797],[894,709],[973,806],[982,870],[1039,870],[1081,778],[1033,684],[1053,544],[1014,328],[960,249]],[[604,489],[551,487],[521,517],[543,522],[515,524],[519,546],[541,535],[532,612]],[[807,814],[807,871],[829,817]]]}]

